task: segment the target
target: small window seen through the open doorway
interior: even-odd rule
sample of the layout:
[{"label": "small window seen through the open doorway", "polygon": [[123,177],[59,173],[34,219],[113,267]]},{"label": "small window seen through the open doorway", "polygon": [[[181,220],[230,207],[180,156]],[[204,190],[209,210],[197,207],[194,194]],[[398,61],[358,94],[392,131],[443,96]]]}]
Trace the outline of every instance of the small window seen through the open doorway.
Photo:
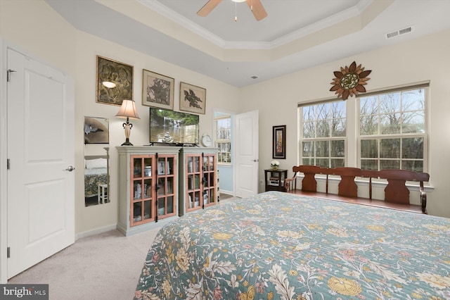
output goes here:
[{"label": "small window seen through the open doorway", "polygon": [[214,118],[216,125],[216,147],[219,149],[217,162],[231,163],[231,116],[224,115]]}]

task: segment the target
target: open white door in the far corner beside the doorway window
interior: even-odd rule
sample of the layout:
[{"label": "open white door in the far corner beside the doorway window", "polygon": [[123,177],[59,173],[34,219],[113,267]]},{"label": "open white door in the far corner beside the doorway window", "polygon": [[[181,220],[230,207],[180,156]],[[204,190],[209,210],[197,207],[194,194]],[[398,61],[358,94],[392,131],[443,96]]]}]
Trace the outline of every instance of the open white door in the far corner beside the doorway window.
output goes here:
[{"label": "open white door in the far corner beside the doorway window", "polygon": [[258,194],[258,111],[240,113],[234,120],[235,191],[236,196],[245,198]]}]

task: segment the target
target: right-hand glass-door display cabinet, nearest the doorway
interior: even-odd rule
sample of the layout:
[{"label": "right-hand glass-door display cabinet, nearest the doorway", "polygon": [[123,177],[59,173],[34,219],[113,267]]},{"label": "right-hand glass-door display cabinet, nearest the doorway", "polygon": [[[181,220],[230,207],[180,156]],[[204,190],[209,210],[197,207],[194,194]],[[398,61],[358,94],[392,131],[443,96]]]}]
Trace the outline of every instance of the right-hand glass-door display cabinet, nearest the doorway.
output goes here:
[{"label": "right-hand glass-door display cabinet, nearest the doorway", "polygon": [[179,215],[217,204],[217,148],[180,151]]}]

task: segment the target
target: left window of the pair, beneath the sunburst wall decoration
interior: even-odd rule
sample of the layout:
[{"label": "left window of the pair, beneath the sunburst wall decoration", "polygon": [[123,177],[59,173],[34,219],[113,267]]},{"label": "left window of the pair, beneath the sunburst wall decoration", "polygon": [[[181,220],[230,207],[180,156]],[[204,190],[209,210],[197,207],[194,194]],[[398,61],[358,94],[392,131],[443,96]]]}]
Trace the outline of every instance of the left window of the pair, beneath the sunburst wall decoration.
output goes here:
[{"label": "left window of the pair, beneath the sunburst wall decoration", "polygon": [[300,111],[302,164],[343,167],[347,132],[345,101],[302,106]]}]

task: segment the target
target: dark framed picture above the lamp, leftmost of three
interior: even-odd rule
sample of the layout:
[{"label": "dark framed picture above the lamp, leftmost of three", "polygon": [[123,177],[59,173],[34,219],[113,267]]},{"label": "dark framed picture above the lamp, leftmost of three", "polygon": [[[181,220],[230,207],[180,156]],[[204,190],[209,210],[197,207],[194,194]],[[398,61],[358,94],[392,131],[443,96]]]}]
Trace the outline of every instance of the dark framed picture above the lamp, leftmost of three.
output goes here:
[{"label": "dark framed picture above the lamp, leftmost of three", "polygon": [[96,102],[122,105],[133,100],[133,66],[97,56]]}]

